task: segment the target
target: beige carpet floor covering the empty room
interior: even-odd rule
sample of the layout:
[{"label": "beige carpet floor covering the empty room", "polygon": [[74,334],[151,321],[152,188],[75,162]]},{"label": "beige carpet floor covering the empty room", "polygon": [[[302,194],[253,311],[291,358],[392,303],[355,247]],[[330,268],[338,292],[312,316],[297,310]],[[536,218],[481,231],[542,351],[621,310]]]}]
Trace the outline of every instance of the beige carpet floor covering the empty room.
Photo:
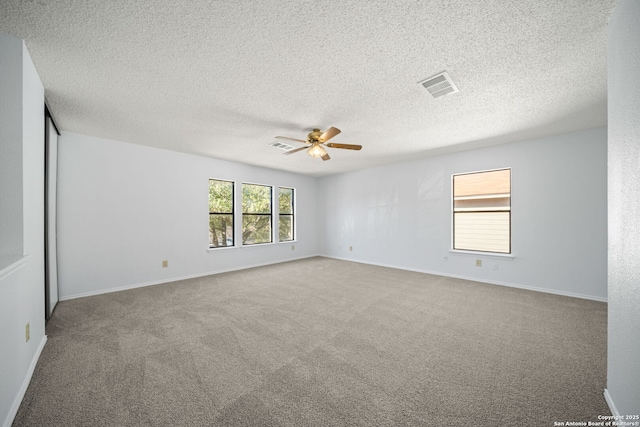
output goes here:
[{"label": "beige carpet floor covering the empty room", "polygon": [[14,425],[597,421],[606,313],[321,257],[63,301]]}]

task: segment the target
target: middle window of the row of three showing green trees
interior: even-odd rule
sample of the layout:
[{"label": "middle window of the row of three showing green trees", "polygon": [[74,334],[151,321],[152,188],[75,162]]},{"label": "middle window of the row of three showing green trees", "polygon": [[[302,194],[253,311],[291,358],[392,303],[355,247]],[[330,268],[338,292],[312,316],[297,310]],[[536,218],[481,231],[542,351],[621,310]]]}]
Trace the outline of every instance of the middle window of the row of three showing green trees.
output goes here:
[{"label": "middle window of the row of three showing green trees", "polygon": [[273,187],[242,184],[242,244],[271,243]]}]

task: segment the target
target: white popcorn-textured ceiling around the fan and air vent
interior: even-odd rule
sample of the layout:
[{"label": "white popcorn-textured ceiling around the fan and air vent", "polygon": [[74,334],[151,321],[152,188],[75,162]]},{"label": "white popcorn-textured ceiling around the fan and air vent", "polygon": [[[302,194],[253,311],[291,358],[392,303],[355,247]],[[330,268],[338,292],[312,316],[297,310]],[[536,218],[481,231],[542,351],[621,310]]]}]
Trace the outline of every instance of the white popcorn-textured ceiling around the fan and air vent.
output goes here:
[{"label": "white popcorn-textured ceiling around the fan and air vent", "polygon": [[[606,125],[616,2],[2,0],[0,32],[63,132],[323,176]],[[270,146],[329,126],[362,151]]]}]

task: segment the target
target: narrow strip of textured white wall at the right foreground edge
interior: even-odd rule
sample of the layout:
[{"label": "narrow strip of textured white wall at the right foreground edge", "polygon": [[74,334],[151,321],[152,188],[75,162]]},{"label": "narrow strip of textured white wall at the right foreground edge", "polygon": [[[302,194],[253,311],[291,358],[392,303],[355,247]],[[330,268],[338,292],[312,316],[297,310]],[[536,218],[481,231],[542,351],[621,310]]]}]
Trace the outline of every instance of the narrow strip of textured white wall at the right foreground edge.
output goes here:
[{"label": "narrow strip of textured white wall at the right foreground edge", "polygon": [[[609,334],[612,411],[640,414],[640,2],[609,22]],[[636,420],[637,421],[637,420]]]}]

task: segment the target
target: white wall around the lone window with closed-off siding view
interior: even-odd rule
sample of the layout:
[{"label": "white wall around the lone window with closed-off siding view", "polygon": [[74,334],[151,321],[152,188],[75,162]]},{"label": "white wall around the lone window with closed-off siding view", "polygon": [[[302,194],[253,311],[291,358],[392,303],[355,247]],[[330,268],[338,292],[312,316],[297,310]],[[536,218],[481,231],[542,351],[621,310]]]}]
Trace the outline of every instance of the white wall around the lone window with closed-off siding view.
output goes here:
[{"label": "white wall around the lone window with closed-off siding view", "polygon": [[[322,252],[606,300],[606,139],[597,128],[322,178]],[[503,167],[514,258],[449,252],[451,175]]]}]

